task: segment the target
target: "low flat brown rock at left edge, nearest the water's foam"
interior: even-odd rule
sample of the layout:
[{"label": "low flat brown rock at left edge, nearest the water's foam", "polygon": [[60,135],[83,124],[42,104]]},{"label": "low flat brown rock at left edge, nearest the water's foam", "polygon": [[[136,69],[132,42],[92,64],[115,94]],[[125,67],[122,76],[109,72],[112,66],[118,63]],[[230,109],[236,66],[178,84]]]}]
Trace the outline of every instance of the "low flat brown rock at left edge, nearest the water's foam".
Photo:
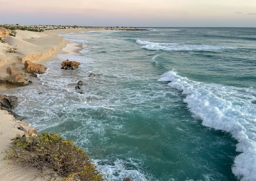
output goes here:
[{"label": "low flat brown rock at left edge, nearest the water's foam", "polygon": [[24,76],[21,74],[14,74],[14,75],[0,78],[0,84],[2,83],[18,86],[18,85],[29,85],[31,81],[27,81],[24,78]]}]

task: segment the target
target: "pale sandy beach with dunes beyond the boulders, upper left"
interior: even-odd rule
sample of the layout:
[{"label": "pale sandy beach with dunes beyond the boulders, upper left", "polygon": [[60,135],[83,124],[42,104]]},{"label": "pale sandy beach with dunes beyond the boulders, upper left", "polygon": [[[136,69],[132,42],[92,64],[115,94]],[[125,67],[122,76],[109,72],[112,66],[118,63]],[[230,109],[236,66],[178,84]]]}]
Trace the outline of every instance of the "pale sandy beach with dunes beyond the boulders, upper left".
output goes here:
[{"label": "pale sandy beach with dunes beyond the boulders, upper left", "polygon": [[[31,74],[25,73],[24,70],[25,60],[46,64],[48,61],[56,60],[59,54],[77,54],[82,50],[82,44],[65,40],[60,34],[103,30],[105,29],[70,28],[44,32],[16,30],[16,37],[9,35],[4,39],[5,44],[0,43],[0,77],[9,75],[7,68],[10,65],[17,67],[18,71],[29,77]],[[14,86],[0,85],[0,90],[10,88]]]}]

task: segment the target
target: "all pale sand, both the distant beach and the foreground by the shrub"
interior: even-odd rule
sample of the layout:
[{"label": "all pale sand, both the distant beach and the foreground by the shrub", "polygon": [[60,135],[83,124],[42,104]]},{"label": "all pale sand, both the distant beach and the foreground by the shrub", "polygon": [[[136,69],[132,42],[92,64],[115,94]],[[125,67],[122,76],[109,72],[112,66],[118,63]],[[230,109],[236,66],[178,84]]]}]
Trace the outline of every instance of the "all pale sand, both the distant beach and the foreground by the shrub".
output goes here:
[{"label": "all pale sand, both the distant beach and the foreground by the shrub", "polygon": [[[17,67],[21,73],[29,77],[30,73],[25,73],[22,59],[31,54],[36,54],[38,59],[33,63],[46,64],[48,61],[55,60],[58,54],[78,54],[82,50],[80,43],[68,41],[59,36],[72,32],[101,31],[101,29],[68,29],[68,30],[48,30],[45,32],[33,32],[17,30],[16,37],[8,36],[5,43],[0,43],[0,77],[6,77],[7,68],[12,65]],[[8,48],[15,49],[16,53],[8,51]],[[44,55],[54,48],[48,56]],[[42,54],[44,56],[42,56]],[[29,57],[28,57],[29,58]],[[0,90],[14,88],[15,86],[0,85]],[[20,121],[15,120],[14,116],[6,110],[0,110],[0,181],[40,181],[49,179],[47,173],[42,173],[35,168],[16,163],[13,160],[4,160],[5,153],[9,148],[11,140],[16,136],[24,135],[24,131],[19,130],[17,125]],[[54,177],[54,179],[62,179]]]}]

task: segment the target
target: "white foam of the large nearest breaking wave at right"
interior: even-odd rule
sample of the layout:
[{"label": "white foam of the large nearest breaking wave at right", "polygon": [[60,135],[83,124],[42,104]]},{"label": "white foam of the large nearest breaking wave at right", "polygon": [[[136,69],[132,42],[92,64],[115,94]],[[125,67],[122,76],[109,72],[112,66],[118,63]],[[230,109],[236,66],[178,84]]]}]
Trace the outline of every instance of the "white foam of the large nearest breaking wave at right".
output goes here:
[{"label": "white foam of the large nearest breaking wave at right", "polygon": [[241,88],[224,87],[190,81],[174,71],[165,73],[158,81],[186,94],[184,102],[189,110],[202,120],[204,126],[223,130],[238,140],[233,173],[241,181],[256,180],[256,105],[252,96]]}]

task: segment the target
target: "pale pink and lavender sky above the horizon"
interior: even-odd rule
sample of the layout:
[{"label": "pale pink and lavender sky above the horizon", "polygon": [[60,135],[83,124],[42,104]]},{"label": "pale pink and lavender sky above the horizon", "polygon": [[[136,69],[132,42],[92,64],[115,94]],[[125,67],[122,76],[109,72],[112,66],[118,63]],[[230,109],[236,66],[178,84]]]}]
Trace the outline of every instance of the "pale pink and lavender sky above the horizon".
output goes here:
[{"label": "pale pink and lavender sky above the horizon", "polygon": [[256,27],[256,0],[0,0],[0,24]]}]

